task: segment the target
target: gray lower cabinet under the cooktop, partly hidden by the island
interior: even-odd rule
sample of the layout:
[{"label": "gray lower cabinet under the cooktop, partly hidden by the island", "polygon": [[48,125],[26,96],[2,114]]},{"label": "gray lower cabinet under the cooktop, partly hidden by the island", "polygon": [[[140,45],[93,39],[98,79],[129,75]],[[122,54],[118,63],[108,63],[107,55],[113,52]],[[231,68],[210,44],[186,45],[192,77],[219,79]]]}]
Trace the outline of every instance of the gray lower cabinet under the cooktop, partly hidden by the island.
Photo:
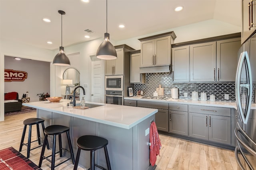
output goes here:
[{"label": "gray lower cabinet under the cooktop, partly hidden by the island", "polygon": [[168,103],[162,102],[148,102],[148,101],[137,101],[138,107],[148,107],[158,109],[158,112],[155,114],[156,116],[156,127],[160,131],[169,130],[169,115],[168,115]]}]

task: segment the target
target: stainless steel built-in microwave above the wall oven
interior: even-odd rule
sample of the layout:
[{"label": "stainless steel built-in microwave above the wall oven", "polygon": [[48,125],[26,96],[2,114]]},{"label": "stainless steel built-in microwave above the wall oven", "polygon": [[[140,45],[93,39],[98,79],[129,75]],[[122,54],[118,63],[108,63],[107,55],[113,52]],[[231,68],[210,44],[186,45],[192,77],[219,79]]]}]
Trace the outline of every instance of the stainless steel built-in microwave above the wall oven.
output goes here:
[{"label": "stainless steel built-in microwave above the wall oven", "polygon": [[123,91],[123,76],[105,76],[105,90]]}]

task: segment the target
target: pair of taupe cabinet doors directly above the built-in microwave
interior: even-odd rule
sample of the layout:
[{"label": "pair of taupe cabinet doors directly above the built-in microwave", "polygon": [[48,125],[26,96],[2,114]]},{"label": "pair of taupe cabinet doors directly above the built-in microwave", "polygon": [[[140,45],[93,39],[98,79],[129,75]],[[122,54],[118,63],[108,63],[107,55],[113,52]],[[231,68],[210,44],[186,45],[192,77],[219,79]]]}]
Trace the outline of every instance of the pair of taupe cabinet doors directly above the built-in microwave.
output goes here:
[{"label": "pair of taupe cabinet doors directly above the built-in microwave", "polygon": [[123,75],[124,74],[124,49],[116,49],[117,59],[106,60],[105,62],[105,75]]}]

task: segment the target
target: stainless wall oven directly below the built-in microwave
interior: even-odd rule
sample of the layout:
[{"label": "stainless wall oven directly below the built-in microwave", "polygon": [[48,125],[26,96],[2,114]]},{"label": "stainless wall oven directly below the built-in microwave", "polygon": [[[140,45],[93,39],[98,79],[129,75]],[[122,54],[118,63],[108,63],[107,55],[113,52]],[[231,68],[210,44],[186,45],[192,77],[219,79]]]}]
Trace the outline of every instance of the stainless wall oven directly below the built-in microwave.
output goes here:
[{"label": "stainless wall oven directly below the built-in microwave", "polygon": [[123,105],[123,91],[106,90],[106,104]]}]

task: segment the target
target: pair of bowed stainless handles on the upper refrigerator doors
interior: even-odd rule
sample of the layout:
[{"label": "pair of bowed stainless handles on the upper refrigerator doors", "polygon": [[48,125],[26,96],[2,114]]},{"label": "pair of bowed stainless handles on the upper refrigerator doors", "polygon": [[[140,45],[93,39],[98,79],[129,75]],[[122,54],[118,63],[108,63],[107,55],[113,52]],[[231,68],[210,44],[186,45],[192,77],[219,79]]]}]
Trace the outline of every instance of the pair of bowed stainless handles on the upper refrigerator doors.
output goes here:
[{"label": "pair of bowed stainless handles on the upper refrigerator doors", "polygon": [[[246,73],[246,76],[245,76],[246,84],[241,84],[241,73],[242,73],[243,65]],[[244,90],[245,88],[246,90]],[[246,94],[244,94],[244,91],[246,91]],[[240,59],[238,61],[238,68],[236,70],[236,105],[237,105],[238,113],[240,115],[240,119],[245,124],[247,123],[249,118],[251,104],[252,104],[252,72],[251,72],[250,59],[248,57],[248,53],[247,51],[244,51],[240,55]]]}]

